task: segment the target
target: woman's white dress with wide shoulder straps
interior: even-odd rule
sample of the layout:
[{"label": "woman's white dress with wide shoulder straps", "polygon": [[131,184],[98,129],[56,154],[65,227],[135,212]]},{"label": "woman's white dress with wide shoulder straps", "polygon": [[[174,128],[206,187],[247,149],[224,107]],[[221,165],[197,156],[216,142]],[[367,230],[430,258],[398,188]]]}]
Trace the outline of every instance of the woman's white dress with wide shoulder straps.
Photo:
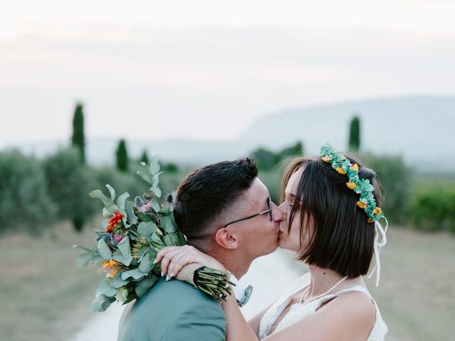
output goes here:
[{"label": "woman's white dress with wide shoulder straps", "polygon": [[[301,291],[306,286],[309,286],[309,283],[310,274],[306,273],[304,274],[304,276],[301,276],[301,278],[299,278],[296,281],[296,284],[294,285],[293,288],[291,288],[290,291],[284,293],[284,295],[281,298],[279,298],[278,301],[274,302],[272,306],[264,313],[259,324],[259,340],[264,339],[264,337],[267,337],[272,333],[271,332],[272,325],[275,323],[279,315],[282,314],[283,310],[289,305],[291,297],[294,296],[297,292]],[[287,326],[296,323],[301,318],[304,318],[305,316],[314,313],[316,309],[318,309],[324,302],[340,295],[341,293],[346,293],[348,291],[362,291],[363,293],[366,293],[368,296],[371,297],[370,293],[368,293],[368,291],[366,291],[365,288],[363,288],[363,286],[353,286],[351,288],[338,291],[337,293],[323,296],[317,300],[310,301],[309,303],[306,304],[294,303],[289,308],[288,313],[279,322],[275,331],[282,330],[283,328],[286,328]],[[382,320],[376,301],[373,298],[371,299],[375,303],[376,307],[376,322],[375,325],[373,326],[373,329],[370,332],[370,335],[368,335],[367,341],[382,341],[384,340],[385,334],[387,333],[387,325],[385,325],[384,320]]]}]

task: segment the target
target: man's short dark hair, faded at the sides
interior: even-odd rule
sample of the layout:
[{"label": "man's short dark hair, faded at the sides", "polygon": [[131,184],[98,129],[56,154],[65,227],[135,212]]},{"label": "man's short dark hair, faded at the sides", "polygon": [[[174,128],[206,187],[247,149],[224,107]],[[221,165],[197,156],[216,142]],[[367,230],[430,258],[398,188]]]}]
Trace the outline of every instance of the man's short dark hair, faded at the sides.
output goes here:
[{"label": "man's short dark hair, faded at the sides", "polygon": [[200,168],[178,186],[173,215],[188,239],[205,237],[210,227],[257,177],[251,158],[221,161]]}]

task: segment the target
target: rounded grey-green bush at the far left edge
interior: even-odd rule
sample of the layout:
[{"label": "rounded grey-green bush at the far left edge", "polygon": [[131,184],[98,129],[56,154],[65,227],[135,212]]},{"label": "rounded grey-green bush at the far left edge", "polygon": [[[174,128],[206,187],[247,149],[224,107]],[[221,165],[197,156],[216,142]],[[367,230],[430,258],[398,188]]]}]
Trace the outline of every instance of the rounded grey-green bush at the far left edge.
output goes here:
[{"label": "rounded grey-green bush at the far left edge", "polygon": [[18,150],[0,152],[0,197],[0,234],[18,229],[37,234],[55,220],[41,164]]}]

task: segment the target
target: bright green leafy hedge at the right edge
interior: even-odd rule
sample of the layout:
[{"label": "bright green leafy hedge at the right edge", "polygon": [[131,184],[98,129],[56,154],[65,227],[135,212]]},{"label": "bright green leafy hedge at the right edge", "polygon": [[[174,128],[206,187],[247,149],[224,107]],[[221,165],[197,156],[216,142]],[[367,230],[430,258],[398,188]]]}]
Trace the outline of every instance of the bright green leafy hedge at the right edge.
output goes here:
[{"label": "bright green leafy hedge at the right edge", "polygon": [[412,200],[410,216],[416,229],[449,229],[455,233],[455,188],[446,186],[417,191]]}]

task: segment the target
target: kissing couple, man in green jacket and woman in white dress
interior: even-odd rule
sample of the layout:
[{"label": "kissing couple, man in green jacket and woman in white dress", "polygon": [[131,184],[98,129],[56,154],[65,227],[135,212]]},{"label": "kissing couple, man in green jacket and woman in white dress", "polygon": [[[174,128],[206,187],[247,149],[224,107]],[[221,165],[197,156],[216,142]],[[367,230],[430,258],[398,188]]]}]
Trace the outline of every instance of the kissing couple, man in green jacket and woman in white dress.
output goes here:
[{"label": "kissing couple, man in green jacket and woman in white dress", "polygon": [[[173,215],[188,245],[157,254],[163,276],[124,310],[119,341],[384,340],[387,326],[363,281],[375,256],[370,275],[376,271],[378,286],[386,242],[375,172],[323,146],[319,158],[291,160],[279,206],[257,175],[243,158],[182,181]],[[250,291],[234,286],[219,304],[191,285],[195,272],[185,271],[208,266],[238,283],[252,261],[277,247],[294,251],[309,271],[249,321],[240,305]]]}]

